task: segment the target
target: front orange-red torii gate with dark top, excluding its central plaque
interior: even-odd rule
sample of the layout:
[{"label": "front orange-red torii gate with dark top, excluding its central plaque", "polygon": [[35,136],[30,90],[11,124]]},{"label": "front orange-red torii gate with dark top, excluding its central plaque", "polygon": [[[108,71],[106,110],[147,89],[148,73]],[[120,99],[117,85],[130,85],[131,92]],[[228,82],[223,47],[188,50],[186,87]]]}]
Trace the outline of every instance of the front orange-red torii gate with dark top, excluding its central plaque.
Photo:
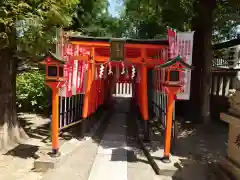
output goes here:
[{"label": "front orange-red torii gate with dark top, excluding its central plaque", "polygon": [[[93,81],[93,74],[96,71],[96,66],[101,64],[111,63],[112,67],[117,67],[122,61],[110,61],[110,39],[104,38],[89,38],[89,37],[70,37],[69,41],[73,45],[80,45],[82,48],[87,48],[90,55],[72,56],[72,60],[85,61],[89,64],[87,87],[90,88]],[[145,120],[148,119],[147,111],[147,92],[145,85],[147,84],[147,68],[153,68],[156,65],[162,64],[167,60],[167,41],[159,40],[124,40],[124,62],[131,65],[139,66],[141,69],[141,87],[142,87],[142,115]],[[87,117],[87,109],[89,106],[89,98],[86,91],[84,101],[84,118]]]}]

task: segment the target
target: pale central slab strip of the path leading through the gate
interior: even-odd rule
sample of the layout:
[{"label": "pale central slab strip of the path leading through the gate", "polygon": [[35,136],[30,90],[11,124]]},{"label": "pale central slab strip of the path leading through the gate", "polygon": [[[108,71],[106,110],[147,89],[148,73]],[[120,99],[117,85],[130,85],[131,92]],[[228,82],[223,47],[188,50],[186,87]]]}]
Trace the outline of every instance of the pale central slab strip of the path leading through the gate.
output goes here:
[{"label": "pale central slab strip of the path leading through the gate", "polygon": [[126,115],[114,114],[100,143],[88,180],[127,180]]}]

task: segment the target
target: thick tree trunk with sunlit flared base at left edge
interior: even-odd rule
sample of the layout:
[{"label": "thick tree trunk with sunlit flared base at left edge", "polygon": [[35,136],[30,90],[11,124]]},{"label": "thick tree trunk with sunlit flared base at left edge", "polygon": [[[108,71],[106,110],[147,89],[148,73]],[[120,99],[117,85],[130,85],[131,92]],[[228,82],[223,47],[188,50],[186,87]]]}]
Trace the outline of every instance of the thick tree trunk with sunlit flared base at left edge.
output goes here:
[{"label": "thick tree trunk with sunlit flared base at left edge", "polygon": [[16,66],[14,49],[0,50],[0,150],[8,150],[27,138],[16,112]]}]

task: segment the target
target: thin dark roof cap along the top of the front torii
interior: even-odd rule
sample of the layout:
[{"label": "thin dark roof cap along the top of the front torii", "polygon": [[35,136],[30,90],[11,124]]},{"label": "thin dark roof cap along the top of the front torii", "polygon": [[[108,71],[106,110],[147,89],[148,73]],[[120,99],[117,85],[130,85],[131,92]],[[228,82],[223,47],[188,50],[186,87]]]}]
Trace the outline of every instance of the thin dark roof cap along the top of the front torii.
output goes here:
[{"label": "thin dark roof cap along the top of the front torii", "polygon": [[110,43],[112,39],[124,40],[127,44],[151,44],[151,45],[168,46],[168,40],[162,40],[162,39],[128,39],[128,38],[124,39],[124,38],[89,37],[89,36],[69,37],[70,41],[103,42],[103,43]]}]

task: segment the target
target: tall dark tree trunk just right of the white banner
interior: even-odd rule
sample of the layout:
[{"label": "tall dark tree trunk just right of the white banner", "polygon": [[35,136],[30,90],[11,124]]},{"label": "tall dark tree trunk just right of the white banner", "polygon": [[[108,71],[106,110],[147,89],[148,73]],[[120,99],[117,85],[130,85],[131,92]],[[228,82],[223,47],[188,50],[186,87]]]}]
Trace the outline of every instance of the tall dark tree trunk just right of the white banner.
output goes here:
[{"label": "tall dark tree trunk just right of the white banner", "polygon": [[[194,37],[195,48],[193,65],[196,69],[192,79],[192,103],[196,103],[197,116],[204,123],[210,118],[210,89],[211,89],[211,67],[212,67],[212,28],[213,12],[216,0],[199,0],[197,5],[197,17]],[[194,104],[193,104],[194,105]]]}]

